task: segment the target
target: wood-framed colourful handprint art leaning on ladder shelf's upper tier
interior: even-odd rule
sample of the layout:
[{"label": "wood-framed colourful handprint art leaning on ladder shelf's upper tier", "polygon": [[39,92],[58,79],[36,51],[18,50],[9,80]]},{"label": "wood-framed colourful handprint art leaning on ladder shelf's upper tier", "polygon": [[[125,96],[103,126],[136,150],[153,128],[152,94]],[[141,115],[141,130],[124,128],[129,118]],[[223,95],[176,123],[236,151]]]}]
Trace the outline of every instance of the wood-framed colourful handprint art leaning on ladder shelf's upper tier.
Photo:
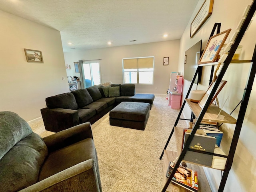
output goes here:
[{"label": "wood-framed colourful handprint art leaning on ladder shelf's upper tier", "polygon": [[216,61],[230,31],[231,29],[225,30],[209,39],[198,64],[212,63]]}]

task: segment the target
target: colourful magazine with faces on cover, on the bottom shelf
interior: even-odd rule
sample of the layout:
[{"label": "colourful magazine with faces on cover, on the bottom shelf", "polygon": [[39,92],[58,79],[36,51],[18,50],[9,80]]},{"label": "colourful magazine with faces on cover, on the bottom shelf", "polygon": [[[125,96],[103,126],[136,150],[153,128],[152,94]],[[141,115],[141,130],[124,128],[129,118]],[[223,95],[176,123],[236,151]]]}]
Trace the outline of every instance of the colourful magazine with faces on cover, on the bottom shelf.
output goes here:
[{"label": "colourful magazine with faces on cover, on the bottom shelf", "polygon": [[[170,162],[166,177],[169,178],[170,174],[175,166],[174,162]],[[176,170],[174,177],[172,178],[172,182],[176,183],[190,191],[197,192],[198,191],[198,177],[197,172],[187,167],[185,162],[181,162],[180,166]]]}]

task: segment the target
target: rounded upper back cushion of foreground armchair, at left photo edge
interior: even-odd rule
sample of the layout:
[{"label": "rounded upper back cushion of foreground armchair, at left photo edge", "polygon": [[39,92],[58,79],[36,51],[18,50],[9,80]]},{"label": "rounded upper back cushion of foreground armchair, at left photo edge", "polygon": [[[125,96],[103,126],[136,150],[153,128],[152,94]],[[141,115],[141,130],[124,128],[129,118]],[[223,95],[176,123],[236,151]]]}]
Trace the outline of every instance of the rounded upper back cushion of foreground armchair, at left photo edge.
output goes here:
[{"label": "rounded upper back cushion of foreground armchair, at left photo edge", "polygon": [[10,111],[0,112],[0,159],[32,132],[28,123],[18,114]]}]

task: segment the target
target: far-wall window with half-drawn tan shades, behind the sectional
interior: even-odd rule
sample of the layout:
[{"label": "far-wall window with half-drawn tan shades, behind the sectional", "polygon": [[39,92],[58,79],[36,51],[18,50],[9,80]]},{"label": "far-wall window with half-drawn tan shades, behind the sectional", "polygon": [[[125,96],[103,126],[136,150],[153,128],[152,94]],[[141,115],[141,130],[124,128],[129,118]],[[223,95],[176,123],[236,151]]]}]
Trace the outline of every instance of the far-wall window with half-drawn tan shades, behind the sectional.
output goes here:
[{"label": "far-wall window with half-drawn tan shades, behind the sectional", "polygon": [[124,83],[153,84],[154,57],[124,58]]}]

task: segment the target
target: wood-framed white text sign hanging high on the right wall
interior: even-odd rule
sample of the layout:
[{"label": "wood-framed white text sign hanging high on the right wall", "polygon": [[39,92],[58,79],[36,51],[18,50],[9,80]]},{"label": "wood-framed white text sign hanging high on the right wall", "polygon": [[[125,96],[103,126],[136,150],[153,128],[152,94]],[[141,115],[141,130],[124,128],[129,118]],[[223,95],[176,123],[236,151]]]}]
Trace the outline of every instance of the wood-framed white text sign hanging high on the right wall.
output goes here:
[{"label": "wood-framed white text sign hanging high on the right wall", "polygon": [[202,27],[204,22],[212,14],[213,0],[205,0],[200,10],[196,14],[194,20],[190,24],[190,38],[192,38],[196,32]]}]

